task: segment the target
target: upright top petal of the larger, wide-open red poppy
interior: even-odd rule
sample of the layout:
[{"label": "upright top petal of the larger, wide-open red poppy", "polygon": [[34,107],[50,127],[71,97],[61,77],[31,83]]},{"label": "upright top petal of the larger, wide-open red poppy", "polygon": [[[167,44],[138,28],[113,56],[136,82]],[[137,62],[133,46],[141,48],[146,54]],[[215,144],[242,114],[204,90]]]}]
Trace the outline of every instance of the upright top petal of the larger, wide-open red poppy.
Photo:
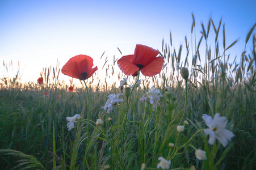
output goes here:
[{"label": "upright top petal of the larger, wide-open red poppy", "polygon": [[159,52],[149,46],[137,44],[134,52],[132,63],[143,65],[144,67],[152,62]]}]

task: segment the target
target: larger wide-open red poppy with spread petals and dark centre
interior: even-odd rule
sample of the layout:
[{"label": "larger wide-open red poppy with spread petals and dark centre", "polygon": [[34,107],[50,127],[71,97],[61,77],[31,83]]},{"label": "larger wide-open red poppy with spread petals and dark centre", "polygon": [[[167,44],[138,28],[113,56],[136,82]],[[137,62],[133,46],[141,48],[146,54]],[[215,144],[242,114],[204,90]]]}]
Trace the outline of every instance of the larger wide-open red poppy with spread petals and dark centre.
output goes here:
[{"label": "larger wide-open red poppy with spread petals and dark centre", "polygon": [[163,57],[157,57],[159,52],[146,45],[137,44],[133,55],[123,56],[117,65],[125,75],[137,76],[138,71],[145,76],[153,76],[161,72]]}]

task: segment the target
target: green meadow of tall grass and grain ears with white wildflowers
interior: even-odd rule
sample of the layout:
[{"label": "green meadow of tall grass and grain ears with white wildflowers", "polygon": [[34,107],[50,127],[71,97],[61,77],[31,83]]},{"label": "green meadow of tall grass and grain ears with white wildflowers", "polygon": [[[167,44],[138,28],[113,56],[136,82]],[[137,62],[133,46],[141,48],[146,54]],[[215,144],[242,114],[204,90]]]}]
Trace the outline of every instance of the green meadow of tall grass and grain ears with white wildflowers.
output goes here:
[{"label": "green meadow of tall grass and grain ears with white wildflowers", "polygon": [[[126,76],[114,69],[117,59],[108,64],[106,58],[99,68],[106,69],[105,78],[95,73],[80,86],[58,79],[58,62],[43,69],[43,84],[22,83],[19,71],[2,77],[1,169],[255,169],[256,24],[236,58],[229,50],[239,40],[226,44],[222,20],[200,27],[196,41],[193,16],[191,42],[185,36],[178,49],[170,33],[159,49],[165,63],[154,76]],[[11,65],[3,62],[7,72]],[[108,82],[112,76],[114,83]],[[203,116],[217,113],[228,124],[212,133],[232,131],[227,142],[209,142],[205,132],[211,127]]]}]

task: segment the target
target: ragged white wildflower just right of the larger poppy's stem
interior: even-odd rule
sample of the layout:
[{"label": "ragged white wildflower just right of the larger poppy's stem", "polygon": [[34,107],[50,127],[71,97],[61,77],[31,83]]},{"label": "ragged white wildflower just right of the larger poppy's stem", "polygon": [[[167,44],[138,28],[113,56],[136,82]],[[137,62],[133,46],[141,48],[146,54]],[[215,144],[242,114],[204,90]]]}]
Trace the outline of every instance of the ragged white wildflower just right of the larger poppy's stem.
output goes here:
[{"label": "ragged white wildflower just right of the larger poppy's stem", "polygon": [[146,95],[144,97],[141,97],[140,101],[144,101],[145,106],[147,101],[149,101],[149,103],[153,105],[153,109],[155,109],[159,104],[158,101],[160,101],[160,97],[162,97],[162,95],[160,94],[160,90],[155,89],[155,87],[152,86],[151,89],[146,92]]}]

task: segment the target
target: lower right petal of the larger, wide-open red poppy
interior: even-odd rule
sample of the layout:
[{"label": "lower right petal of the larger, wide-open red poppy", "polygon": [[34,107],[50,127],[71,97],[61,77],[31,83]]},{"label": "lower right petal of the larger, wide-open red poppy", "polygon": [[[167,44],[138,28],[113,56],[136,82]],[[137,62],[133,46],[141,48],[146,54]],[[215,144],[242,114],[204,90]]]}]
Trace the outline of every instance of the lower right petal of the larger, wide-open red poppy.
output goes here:
[{"label": "lower right petal of the larger, wide-open red poppy", "polygon": [[153,76],[161,72],[163,67],[163,57],[157,57],[149,65],[143,67],[140,71],[145,76]]}]

